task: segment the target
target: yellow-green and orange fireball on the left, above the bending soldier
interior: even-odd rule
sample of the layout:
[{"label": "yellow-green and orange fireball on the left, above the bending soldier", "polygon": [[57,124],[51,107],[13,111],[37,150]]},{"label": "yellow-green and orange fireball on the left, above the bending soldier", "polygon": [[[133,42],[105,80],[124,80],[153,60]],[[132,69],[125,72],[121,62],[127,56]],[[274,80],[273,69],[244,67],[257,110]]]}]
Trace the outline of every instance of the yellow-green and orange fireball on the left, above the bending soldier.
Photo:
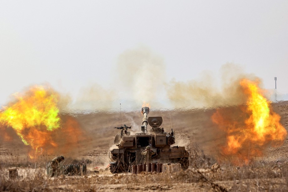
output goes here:
[{"label": "yellow-green and orange fireball on the left, above the bending soldier", "polygon": [[35,86],[15,97],[16,102],[5,106],[0,113],[0,123],[12,127],[22,142],[36,152],[41,152],[39,149],[47,143],[57,146],[49,132],[60,127],[58,95]]}]

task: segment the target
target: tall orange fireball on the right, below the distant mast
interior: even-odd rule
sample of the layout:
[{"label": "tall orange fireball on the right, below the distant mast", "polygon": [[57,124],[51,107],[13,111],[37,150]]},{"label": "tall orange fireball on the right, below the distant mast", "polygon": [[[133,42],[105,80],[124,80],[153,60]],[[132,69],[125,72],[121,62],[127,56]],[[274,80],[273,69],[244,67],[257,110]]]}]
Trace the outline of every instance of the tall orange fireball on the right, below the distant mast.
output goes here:
[{"label": "tall orange fireball on the right, below the distant mast", "polygon": [[226,132],[226,144],[221,146],[223,156],[219,160],[228,158],[235,164],[248,164],[254,157],[263,156],[270,144],[281,146],[287,131],[258,82],[242,79],[240,86],[246,103],[238,106],[238,114],[220,108],[212,115],[212,121]]}]

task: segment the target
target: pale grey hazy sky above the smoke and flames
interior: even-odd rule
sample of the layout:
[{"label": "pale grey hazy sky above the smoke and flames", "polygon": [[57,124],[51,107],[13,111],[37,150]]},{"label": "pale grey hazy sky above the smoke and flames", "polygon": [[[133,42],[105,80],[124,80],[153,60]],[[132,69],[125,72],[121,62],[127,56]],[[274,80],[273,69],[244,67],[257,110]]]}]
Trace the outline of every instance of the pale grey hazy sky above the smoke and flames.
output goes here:
[{"label": "pale grey hazy sky above the smoke and flames", "polygon": [[34,84],[74,100],[85,87],[109,89],[125,73],[119,57],[139,47],[160,58],[161,82],[217,76],[230,62],[266,89],[276,76],[287,94],[287,10],[286,0],[0,1],[0,103]]}]

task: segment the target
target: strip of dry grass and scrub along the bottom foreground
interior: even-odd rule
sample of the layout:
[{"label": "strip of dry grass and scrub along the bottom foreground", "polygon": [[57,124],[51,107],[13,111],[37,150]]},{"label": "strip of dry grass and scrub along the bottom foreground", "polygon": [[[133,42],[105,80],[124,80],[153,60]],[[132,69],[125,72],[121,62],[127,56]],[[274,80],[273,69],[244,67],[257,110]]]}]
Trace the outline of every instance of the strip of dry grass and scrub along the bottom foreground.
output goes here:
[{"label": "strip of dry grass and scrub along the bottom foreground", "polygon": [[286,191],[287,164],[258,163],[225,166],[217,171],[190,168],[178,173],[89,175],[47,178],[43,168],[23,179],[11,180],[1,171],[1,191]]}]

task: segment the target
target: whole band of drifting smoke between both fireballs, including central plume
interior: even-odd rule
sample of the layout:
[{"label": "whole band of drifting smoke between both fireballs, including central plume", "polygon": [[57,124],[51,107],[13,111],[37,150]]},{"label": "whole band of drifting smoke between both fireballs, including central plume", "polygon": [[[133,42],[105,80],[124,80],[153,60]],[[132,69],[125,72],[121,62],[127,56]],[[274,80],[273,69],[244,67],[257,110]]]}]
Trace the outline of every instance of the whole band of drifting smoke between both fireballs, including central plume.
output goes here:
[{"label": "whole band of drifting smoke between both fireballs, including central plume", "polygon": [[63,100],[66,108],[60,111],[111,113],[120,110],[120,103],[126,111],[140,110],[143,103],[164,110],[238,105],[245,103],[240,79],[257,79],[233,63],[222,65],[216,73],[203,71],[186,82],[167,79],[164,59],[145,46],[119,55],[110,76],[109,87],[97,83],[82,87],[74,102]]}]

